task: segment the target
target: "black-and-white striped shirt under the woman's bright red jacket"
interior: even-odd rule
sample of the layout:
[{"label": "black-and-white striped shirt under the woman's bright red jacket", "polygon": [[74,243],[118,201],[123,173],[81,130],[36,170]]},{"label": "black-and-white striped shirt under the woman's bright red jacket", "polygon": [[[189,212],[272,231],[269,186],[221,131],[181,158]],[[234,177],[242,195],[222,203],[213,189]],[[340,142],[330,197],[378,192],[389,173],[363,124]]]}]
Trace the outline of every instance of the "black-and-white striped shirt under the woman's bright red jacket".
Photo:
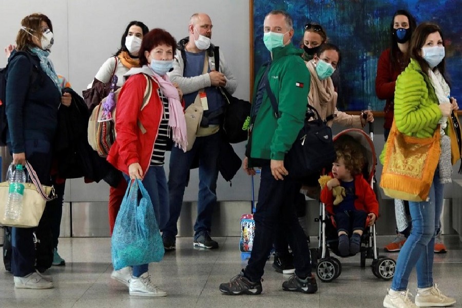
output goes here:
[{"label": "black-and-white striped shirt under the woman's bright red jacket", "polygon": [[164,158],[165,158],[165,151],[167,149],[167,141],[168,141],[168,119],[170,118],[168,112],[168,98],[164,96],[161,89],[157,90],[159,94],[159,98],[164,105],[164,110],[162,114],[162,120],[159,126],[159,132],[157,135],[156,142],[154,143],[154,150],[152,152],[150,166],[163,166],[164,165]]}]

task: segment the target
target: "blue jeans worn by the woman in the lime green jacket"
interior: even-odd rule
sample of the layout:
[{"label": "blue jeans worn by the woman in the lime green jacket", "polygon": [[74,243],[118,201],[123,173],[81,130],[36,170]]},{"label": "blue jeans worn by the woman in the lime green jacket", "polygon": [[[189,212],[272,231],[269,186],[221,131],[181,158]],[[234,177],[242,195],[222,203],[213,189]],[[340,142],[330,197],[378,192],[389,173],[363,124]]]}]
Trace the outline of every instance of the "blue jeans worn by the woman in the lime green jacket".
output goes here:
[{"label": "blue jeans worn by the woman in the lime green jacket", "polygon": [[417,272],[417,287],[433,286],[434,245],[439,229],[443,190],[444,185],[439,182],[439,170],[436,168],[430,188],[430,200],[428,202],[409,201],[412,229],[398,255],[395,276],[391,285],[394,291],[407,289],[409,275],[414,265]]}]

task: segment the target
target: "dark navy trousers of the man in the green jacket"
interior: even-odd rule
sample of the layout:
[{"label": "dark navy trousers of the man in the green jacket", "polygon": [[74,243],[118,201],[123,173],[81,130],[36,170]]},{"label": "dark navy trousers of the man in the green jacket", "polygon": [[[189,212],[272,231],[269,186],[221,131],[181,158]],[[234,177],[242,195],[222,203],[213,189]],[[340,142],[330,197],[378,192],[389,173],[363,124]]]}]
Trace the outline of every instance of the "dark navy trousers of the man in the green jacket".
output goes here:
[{"label": "dark navy trousers of the man in the green jacket", "polygon": [[257,210],[254,214],[254,246],[244,269],[244,275],[251,281],[261,280],[275,234],[285,237],[291,246],[295,274],[300,278],[311,276],[310,251],[296,215],[295,200],[300,187],[300,184],[290,178],[275,180],[271,168],[262,167]]}]

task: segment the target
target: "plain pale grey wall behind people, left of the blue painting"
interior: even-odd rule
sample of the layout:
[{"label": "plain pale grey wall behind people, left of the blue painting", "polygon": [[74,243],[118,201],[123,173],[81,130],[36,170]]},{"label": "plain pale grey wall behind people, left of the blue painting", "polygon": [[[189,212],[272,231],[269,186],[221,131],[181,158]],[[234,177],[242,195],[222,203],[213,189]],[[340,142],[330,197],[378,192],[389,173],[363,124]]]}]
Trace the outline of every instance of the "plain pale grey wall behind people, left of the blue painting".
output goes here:
[{"label": "plain pale grey wall behind people, left of the blue painting", "polygon": [[[193,13],[208,13],[214,25],[212,43],[220,46],[220,52],[238,80],[235,96],[249,98],[250,26],[247,0],[0,0],[0,7],[2,52],[4,47],[14,42],[23,17],[41,12],[50,18],[55,37],[50,59],[56,72],[66,76],[72,88],[79,93],[93,80],[103,62],[119,49],[121,36],[130,21],[141,21],[150,29],[164,28],[178,41],[187,36],[189,17]],[[5,65],[6,57],[2,53],[0,67]],[[242,157],[244,145],[237,145],[236,151]],[[107,200],[106,184],[79,185],[77,182],[70,181],[68,188],[81,187],[84,191],[79,192],[93,201]],[[242,171],[233,180],[232,189],[219,177],[219,199],[248,200],[249,183],[250,180]],[[197,200],[197,187],[196,170],[191,173],[185,200]],[[245,194],[242,194],[243,190]]]}]

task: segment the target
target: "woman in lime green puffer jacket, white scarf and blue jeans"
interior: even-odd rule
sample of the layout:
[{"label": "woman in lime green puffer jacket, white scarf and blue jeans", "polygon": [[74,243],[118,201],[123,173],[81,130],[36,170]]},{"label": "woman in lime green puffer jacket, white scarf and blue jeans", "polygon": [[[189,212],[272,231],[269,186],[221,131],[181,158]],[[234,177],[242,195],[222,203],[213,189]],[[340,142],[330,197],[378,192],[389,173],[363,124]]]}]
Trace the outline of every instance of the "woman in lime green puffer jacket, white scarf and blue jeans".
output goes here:
[{"label": "woman in lime green puffer jacket, white scarf and blue jeans", "polygon": [[[419,25],[412,35],[410,48],[411,63],[396,81],[396,127],[408,136],[428,138],[433,136],[439,124],[441,157],[430,188],[429,201],[409,202],[412,230],[398,255],[393,282],[383,300],[383,306],[442,307],[454,304],[455,300],[442,294],[433,283],[433,246],[441,216],[444,183],[450,181],[452,171],[451,157],[448,161],[444,155],[449,138],[443,129],[451,111],[458,107],[455,99],[449,97],[445,76],[445,47],[439,27],[429,23]],[[449,141],[449,153],[450,147]],[[418,288],[415,304],[408,297],[407,290],[414,266]]]}]

